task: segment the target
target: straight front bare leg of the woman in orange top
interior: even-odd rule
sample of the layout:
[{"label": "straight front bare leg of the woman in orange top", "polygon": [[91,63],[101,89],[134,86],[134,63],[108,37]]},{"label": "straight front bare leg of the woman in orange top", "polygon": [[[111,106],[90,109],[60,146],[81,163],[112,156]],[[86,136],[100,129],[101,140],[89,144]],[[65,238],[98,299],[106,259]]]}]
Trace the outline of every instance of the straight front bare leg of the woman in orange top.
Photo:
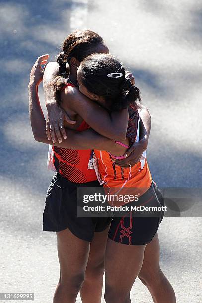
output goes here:
[{"label": "straight front bare leg of the woman in orange top", "polygon": [[105,258],[106,303],[131,303],[130,291],[141,270],[145,247],[108,239]]}]

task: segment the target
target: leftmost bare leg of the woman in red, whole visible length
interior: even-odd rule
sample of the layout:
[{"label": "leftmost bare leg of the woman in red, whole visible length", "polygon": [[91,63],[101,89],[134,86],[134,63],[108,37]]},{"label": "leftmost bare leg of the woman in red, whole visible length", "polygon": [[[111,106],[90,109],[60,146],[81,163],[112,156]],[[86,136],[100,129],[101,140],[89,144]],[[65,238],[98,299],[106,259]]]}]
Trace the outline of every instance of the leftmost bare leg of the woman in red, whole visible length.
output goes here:
[{"label": "leftmost bare leg of the woman in red, whole visible length", "polygon": [[77,238],[68,228],[56,234],[60,279],[53,303],[75,303],[84,281],[90,242]]}]

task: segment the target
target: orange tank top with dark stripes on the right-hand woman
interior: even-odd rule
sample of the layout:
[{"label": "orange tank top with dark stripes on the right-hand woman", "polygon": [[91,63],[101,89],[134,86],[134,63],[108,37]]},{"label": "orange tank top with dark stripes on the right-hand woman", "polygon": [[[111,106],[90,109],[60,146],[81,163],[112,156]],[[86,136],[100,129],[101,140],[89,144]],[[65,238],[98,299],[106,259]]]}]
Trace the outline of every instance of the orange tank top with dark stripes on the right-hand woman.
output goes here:
[{"label": "orange tank top with dark stripes on the right-hand woman", "polygon": [[[139,123],[138,109],[136,106],[131,106],[127,129],[127,137],[131,139],[131,144],[139,141]],[[109,201],[113,206],[120,206],[126,203],[121,200],[121,196],[138,195],[140,197],[151,186],[152,177],[146,160],[146,151],[137,164],[128,168],[115,166],[113,157],[106,151],[94,150],[94,153],[98,159],[98,170],[104,182],[105,192],[109,195],[119,195],[119,201]]]}]

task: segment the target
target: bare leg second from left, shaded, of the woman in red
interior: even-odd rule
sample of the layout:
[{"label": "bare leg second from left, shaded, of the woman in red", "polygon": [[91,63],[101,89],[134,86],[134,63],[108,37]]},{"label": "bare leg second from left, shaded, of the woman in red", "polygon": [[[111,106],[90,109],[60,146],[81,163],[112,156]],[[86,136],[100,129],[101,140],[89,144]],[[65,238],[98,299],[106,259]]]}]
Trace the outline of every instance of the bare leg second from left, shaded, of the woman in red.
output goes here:
[{"label": "bare leg second from left, shaded, of the woman in red", "polygon": [[109,227],[94,234],[90,244],[85,280],[80,290],[82,303],[100,303],[102,297],[104,259]]}]

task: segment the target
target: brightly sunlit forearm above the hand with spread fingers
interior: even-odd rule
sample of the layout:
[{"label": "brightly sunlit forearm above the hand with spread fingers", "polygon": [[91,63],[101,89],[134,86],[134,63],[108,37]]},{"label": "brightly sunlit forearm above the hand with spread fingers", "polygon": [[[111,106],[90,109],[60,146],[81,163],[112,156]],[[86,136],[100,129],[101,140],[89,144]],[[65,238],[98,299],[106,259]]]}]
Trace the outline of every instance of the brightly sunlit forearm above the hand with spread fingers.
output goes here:
[{"label": "brightly sunlit forearm above the hand with spread fingers", "polygon": [[46,106],[56,104],[54,86],[52,81],[59,75],[59,64],[57,62],[49,62],[46,65],[43,77],[44,95]]}]

